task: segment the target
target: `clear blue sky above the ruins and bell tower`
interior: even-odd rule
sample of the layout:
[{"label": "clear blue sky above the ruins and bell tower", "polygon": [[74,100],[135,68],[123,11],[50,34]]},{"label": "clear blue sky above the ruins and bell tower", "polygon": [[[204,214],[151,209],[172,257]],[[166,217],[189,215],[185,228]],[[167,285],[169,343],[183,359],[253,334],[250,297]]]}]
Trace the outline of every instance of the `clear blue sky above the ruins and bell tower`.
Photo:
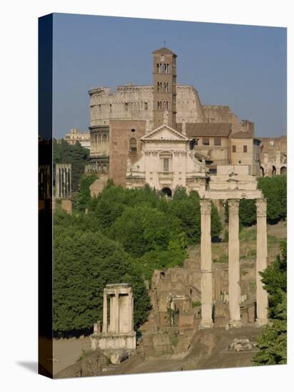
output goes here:
[{"label": "clear blue sky above the ruins and bell tower", "polygon": [[278,27],[54,14],[54,135],[88,130],[88,90],[152,84],[151,52],[177,57],[177,82],[229,105],[255,135],[286,133],[287,31]]}]

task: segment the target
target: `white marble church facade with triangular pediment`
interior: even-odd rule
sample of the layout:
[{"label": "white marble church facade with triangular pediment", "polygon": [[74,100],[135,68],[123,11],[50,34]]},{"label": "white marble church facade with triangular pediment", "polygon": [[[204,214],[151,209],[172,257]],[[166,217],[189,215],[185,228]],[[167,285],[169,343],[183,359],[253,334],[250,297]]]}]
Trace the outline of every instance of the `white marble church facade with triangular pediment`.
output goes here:
[{"label": "white marble church facade with triangular pediment", "polygon": [[182,186],[188,192],[196,190],[204,195],[206,165],[194,157],[186,135],[163,124],[140,140],[142,156],[133,165],[128,161],[126,187],[148,184],[172,195],[177,186]]}]

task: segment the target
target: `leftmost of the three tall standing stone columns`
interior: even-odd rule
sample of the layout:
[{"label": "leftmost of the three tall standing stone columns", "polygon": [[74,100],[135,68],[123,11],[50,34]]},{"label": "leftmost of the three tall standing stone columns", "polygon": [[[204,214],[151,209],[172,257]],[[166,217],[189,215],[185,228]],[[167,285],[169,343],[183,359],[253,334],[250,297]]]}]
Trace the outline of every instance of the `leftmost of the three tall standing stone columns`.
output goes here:
[{"label": "leftmost of the three tall standing stone columns", "polygon": [[213,277],[211,260],[211,200],[201,200],[201,324],[213,327]]}]

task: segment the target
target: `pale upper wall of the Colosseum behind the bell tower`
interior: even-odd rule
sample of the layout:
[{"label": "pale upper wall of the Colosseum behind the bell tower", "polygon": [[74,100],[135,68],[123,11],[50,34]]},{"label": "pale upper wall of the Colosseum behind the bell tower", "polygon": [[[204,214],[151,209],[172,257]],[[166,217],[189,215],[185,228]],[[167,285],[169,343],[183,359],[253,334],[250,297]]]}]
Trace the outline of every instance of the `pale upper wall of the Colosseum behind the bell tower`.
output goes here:
[{"label": "pale upper wall of the Colosseum behind the bell tower", "polygon": [[[176,120],[178,123],[204,122],[204,112],[193,86],[177,85]],[[109,120],[146,120],[153,127],[153,86],[118,86],[89,91],[91,126],[108,125]],[[147,129],[148,130],[148,129]]]}]

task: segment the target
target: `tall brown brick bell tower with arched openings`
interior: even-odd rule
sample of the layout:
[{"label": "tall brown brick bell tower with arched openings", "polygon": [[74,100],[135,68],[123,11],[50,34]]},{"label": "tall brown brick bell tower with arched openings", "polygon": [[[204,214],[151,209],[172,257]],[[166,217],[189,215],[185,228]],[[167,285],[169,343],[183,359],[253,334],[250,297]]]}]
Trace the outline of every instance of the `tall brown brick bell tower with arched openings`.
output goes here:
[{"label": "tall brown brick bell tower with arched openings", "polygon": [[153,128],[176,128],[176,54],[163,47],[153,51]]}]

